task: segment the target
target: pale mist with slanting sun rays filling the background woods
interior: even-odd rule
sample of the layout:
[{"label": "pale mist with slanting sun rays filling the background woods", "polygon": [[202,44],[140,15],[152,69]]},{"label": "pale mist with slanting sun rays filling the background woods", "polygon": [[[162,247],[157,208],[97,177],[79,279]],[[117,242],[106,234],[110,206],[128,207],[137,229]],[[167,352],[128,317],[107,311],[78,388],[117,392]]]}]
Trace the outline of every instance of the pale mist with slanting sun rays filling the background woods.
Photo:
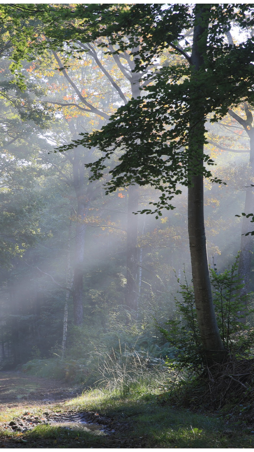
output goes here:
[{"label": "pale mist with slanting sun rays filling the background woods", "polygon": [[[232,39],[240,44],[248,33],[236,27]],[[138,186],[130,175],[128,184],[106,194],[123,149],[115,147],[95,178],[89,164],[102,153],[79,140],[110,124],[130,99],[144,98],[157,68],[179,64],[183,55],[165,47],[137,73],[132,52],[116,53],[116,44],[109,52],[96,39],[77,41],[75,49],[65,42],[57,52],[49,47],[33,61],[22,60],[22,90],[9,69],[13,50],[2,38],[1,368],[54,357],[92,362],[117,341],[121,347],[140,338],[140,349],[154,345],[165,359],[167,341],[158,325],[178,318],[181,284],[192,285],[188,187],[177,185],[174,208],[162,208],[158,219],[141,214],[160,202],[160,190]],[[204,180],[207,256],[218,272],[241,249],[242,217],[236,215],[245,212],[252,177],[243,126],[250,115],[252,106],[243,101],[218,122],[210,113],[205,124],[204,152],[214,162],[212,176],[221,179]],[[254,290],[252,260],[248,292]]]}]

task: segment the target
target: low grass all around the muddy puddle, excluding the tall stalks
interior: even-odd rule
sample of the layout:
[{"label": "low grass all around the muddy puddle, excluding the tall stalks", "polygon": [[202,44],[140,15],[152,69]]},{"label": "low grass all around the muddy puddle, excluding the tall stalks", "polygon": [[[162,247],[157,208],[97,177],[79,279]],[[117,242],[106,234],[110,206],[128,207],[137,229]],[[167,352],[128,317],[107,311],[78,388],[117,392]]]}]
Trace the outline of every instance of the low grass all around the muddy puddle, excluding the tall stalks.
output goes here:
[{"label": "low grass all around the muddy puddle, excluding the tall stalks", "polygon": [[[43,418],[49,407],[33,406],[33,415]],[[155,394],[132,392],[122,397],[119,391],[93,390],[50,408],[52,412],[87,412],[105,416],[107,430],[72,431],[39,424],[26,433],[1,429],[3,447],[170,447],[170,448],[251,448],[254,435],[247,429],[227,424],[221,417],[192,413],[161,405]],[[24,410],[23,410],[24,411]],[[24,414],[9,410],[1,414],[6,422]],[[45,417],[45,416],[44,416]],[[112,432],[113,431],[113,432]]]}]

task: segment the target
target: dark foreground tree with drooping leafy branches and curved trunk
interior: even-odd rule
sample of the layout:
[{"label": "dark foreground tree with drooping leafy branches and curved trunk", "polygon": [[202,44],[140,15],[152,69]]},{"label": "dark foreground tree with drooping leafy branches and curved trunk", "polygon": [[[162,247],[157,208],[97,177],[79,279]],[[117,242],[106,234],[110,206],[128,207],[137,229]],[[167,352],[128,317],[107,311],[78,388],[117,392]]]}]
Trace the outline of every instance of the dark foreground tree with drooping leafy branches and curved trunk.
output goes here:
[{"label": "dark foreground tree with drooping leafy branches and curved trunk", "polygon": [[[109,8],[104,16],[104,11],[95,8],[94,18],[99,16],[102,25],[98,34],[105,36],[111,30],[122,50],[125,43],[121,32],[130,33],[134,42],[136,26],[144,42],[143,61],[140,63],[136,60],[137,66],[148,65],[165,46],[171,47],[172,52],[181,53],[185,62],[181,66],[161,68],[156,77],[153,76],[153,80],[156,80],[154,85],[146,88],[145,96],[132,99],[126,106],[119,108],[102,132],[95,132],[90,137],[84,134],[84,138],[70,146],[76,146],[77,143],[98,146],[105,153],[105,156],[89,165],[94,171],[93,179],[101,177],[105,170],[105,159],[121,147],[124,154],[111,171],[108,193],[124,184],[150,183],[162,191],[160,201],[155,203],[158,215],[161,215],[160,208],[173,208],[169,201],[174,194],[180,193],[177,184],[188,186],[188,230],[198,323],[207,356],[212,353],[213,358],[220,360],[225,353],[212,303],[203,221],[203,176],[212,179],[203,162],[208,165],[213,163],[203,154],[205,122],[210,113],[213,114],[212,121],[221,119],[229,107],[239,103],[242,97],[246,98],[253,86],[253,65],[247,55],[253,46],[252,38],[247,38],[239,46],[232,46],[223,39],[225,29],[230,28],[233,18],[243,27],[252,24],[252,9],[248,6],[235,8],[234,5],[228,5],[223,9],[220,5],[196,5],[187,11],[185,6],[181,8],[177,5],[175,10],[171,6],[169,11],[165,9],[162,12],[156,7],[134,5],[124,11],[119,8],[117,20],[114,8]],[[174,16],[172,13],[176,10],[179,12],[179,9],[182,22],[178,20],[176,24],[176,14]],[[137,12],[135,24],[134,12]],[[112,22],[109,24],[110,14]],[[130,18],[135,33],[132,33]],[[151,27],[151,21],[156,22],[156,27]],[[165,24],[169,23],[168,28],[165,28]],[[177,46],[175,43],[182,43],[184,39],[186,23],[188,28],[194,24],[192,46],[187,40],[184,47]],[[95,28],[95,21],[93,25]],[[94,28],[93,32],[96,33]],[[88,29],[89,26],[85,33]],[[80,39],[82,41],[84,36]],[[191,55],[188,54],[189,50]],[[240,72],[235,72],[235,65]],[[252,102],[252,99],[249,100]],[[141,154],[136,150],[137,140],[140,140]],[[68,148],[66,146],[61,150]]]}]

